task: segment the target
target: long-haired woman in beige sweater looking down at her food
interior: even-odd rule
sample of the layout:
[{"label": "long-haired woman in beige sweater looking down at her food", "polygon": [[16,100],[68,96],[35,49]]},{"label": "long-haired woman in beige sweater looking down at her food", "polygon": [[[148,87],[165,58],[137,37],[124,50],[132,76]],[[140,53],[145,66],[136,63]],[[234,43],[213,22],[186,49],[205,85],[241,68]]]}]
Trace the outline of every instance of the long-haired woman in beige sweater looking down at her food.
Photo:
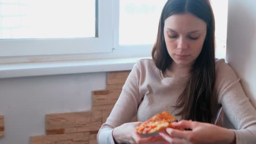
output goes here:
[{"label": "long-haired woman in beige sweater looking down at her food", "polygon": [[[99,130],[99,144],[256,144],[256,110],[235,72],[224,59],[215,59],[214,30],[208,0],[168,0],[152,60],[134,65]],[[214,125],[220,107],[238,130]],[[181,120],[173,125],[192,131],[167,128],[149,138],[134,131],[136,125],[164,110]],[[139,122],[131,123],[136,116]]]}]

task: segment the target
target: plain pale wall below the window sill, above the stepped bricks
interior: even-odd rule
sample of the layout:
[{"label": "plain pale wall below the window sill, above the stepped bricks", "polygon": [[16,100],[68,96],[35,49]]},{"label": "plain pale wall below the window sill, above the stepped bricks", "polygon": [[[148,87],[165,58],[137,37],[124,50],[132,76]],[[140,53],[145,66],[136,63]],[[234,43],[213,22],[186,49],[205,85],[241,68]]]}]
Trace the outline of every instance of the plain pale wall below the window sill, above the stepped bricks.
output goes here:
[{"label": "plain pale wall below the window sill, above the stepped bricks", "polygon": [[0,144],[29,144],[45,134],[45,114],[91,110],[91,92],[106,88],[106,72],[0,79]]}]

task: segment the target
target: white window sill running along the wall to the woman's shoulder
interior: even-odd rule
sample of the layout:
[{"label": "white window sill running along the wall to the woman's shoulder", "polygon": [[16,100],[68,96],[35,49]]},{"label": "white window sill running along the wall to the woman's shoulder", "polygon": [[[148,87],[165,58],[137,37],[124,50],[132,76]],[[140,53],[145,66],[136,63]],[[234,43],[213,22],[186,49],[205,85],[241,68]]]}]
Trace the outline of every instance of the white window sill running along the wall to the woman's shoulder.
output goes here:
[{"label": "white window sill running along the wall to the woman's shoulder", "polygon": [[2,64],[0,78],[131,70],[136,61],[145,58],[149,57]]}]

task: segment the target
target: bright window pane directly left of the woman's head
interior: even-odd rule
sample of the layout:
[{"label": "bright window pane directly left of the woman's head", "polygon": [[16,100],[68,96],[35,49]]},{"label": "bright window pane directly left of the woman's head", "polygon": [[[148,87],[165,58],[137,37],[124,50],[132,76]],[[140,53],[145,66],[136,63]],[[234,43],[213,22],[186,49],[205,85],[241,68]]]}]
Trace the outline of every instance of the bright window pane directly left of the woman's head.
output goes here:
[{"label": "bright window pane directly left of the woman's head", "polygon": [[120,0],[119,44],[153,44],[167,0]]}]

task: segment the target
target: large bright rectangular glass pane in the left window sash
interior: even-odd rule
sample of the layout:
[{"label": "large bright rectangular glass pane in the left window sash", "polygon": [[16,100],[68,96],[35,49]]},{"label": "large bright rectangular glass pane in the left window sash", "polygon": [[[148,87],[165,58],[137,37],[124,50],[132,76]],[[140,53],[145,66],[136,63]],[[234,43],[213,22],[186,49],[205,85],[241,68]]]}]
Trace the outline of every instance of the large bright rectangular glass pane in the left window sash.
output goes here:
[{"label": "large bright rectangular glass pane in the left window sash", "polygon": [[0,39],[95,37],[95,0],[0,0]]}]

